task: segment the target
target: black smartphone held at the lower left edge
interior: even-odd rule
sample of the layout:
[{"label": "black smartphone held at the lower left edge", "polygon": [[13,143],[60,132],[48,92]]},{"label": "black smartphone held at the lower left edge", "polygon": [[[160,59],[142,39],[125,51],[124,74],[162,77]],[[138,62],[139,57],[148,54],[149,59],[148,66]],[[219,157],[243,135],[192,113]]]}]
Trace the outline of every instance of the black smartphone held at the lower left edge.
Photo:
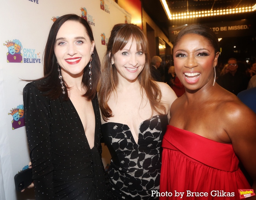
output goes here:
[{"label": "black smartphone held at the lower left edge", "polygon": [[20,192],[24,188],[28,187],[32,182],[32,169],[27,168],[22,170],[14,176],[15,189]]}]

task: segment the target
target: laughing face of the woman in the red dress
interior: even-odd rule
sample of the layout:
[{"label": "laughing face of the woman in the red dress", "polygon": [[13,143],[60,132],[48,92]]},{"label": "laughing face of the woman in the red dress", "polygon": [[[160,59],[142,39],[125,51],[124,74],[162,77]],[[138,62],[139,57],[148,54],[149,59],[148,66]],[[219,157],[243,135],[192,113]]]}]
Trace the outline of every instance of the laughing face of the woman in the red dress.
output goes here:
[{"label": "laughing face of the woman in the red dress", "polygon": [[173,49],[175,72],[189,90],[198,90],[214,82],[214,66],[219,54],[201,35],[182,36]]}]

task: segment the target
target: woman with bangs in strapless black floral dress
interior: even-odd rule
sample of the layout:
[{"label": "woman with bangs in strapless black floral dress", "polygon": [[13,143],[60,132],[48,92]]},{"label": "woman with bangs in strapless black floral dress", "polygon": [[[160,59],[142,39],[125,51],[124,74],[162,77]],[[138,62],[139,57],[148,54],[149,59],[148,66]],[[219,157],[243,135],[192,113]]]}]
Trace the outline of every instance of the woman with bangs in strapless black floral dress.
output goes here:
[{"label": "woman with bangs in strapless black floral dress", "polygon": [[176,94],[150,74],[147,38],[134,24],[113,27],[102,64],[102,134],[112,156],[113,199],[157,199],[161,143]]}]

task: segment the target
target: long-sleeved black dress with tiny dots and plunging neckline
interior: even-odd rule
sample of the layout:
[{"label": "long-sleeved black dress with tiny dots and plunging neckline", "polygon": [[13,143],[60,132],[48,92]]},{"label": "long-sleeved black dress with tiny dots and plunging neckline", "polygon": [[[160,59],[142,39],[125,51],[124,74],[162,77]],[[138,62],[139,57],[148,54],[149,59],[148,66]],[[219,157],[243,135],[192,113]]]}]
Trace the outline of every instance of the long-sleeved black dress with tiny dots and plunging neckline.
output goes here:
[{"label": "long-sleeved black dress with tiny dots and plunging neckline", "polygon": [[70,99],[46,97],[37,89],[37,85],[44,81],[28,83],[23,90],[36,199],[105,199],[97,95],[92,100],[95,144],[90,149],[82,122]]}]

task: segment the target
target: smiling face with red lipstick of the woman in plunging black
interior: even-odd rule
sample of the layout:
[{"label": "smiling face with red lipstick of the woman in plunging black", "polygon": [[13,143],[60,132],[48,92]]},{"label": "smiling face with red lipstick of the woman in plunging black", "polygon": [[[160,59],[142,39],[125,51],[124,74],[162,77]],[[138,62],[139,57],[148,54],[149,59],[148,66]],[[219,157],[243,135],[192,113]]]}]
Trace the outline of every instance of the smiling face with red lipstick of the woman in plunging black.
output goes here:
[{"label": "smiling face with red lipstick of the woman in plunging black", "polygon": [[63,77],[83,76],[93,49],[94,42],[91,43],[84,26],[77,21],[66,21],[57,33],[54,47]]}]

